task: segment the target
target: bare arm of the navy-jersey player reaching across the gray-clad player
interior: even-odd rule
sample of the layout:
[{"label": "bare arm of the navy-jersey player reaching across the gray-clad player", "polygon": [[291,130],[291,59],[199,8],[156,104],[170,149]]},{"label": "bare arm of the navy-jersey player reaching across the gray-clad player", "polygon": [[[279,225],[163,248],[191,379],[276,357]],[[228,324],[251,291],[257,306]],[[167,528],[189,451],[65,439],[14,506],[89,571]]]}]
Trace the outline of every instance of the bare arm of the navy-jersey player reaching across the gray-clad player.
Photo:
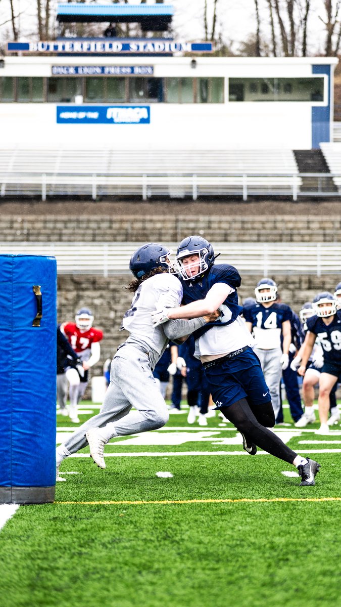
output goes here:
[{"label": "bare arm of the navy-jersey player reaching across the gray-clad player", "polygon": [[156,325],[167,320],[175,319],[195,319],[200,316],[213,314],[218,307],[225,302],[226,297],[233,293],[234,289],[223,282],[217,282],[208,291],[204,299],[198,299],[191,304],[183,305],[178,308],[163,308],[152,313]]}]

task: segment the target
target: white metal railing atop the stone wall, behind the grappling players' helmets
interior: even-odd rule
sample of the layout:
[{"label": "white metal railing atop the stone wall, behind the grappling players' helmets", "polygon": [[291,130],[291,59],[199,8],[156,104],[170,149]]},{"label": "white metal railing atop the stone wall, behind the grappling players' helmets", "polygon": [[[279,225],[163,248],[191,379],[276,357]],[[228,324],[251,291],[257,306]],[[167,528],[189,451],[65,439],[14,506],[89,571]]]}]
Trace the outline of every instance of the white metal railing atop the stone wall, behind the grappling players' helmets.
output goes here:
[{"label": "white metal railing atop the stone wall, behind the grappling players' helmets", "polygon": [[[115,276],[129,274],[133,251],[143,243],[0,243],[0,254],[52,255],[58,274]],[[173,251],[177,243],[166,243]],[[214,242],[218,262],[229,263],[241,274],[340,274],[341,243],[226,243]]]}]

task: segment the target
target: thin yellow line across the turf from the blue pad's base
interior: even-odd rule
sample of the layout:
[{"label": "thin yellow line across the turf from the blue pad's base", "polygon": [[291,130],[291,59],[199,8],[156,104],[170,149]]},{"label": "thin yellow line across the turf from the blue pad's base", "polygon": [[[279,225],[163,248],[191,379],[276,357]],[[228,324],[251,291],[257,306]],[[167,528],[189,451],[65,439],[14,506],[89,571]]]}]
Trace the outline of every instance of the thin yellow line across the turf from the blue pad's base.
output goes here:
[{"label": "thin yellow line across the turf from the blue pad's base", "polygon": [[55,504],[74,504],[78,506],[144,506],[145,504],[235,504],[262,503],[282,501],[341,501],[341,497],[274,497],[274,498],[241,498],[240,500],[160,500],[160,501],[55,501]]}]

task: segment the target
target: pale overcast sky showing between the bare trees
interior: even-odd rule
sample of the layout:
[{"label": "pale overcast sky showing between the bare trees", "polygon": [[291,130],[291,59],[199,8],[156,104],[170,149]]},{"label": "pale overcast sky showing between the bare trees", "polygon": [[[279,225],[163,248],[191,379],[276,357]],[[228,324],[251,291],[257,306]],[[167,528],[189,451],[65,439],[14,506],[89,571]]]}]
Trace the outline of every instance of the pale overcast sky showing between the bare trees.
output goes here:
[{"label": "pale overcast sky showing between the bare trees", "polygon": [[[101,0],[99,4],[111,4],[110,0]],[[133,0],[130,2],[133,4]],[[166,3],[166,1],[165,1]],[[174,30],[177,37],[183,40],[204,39],[203,12],[204,0],[170,0],[174,5]],[[32,38],[36,30],[36,0],[13,0],[15,14],[19,15],[19,31],[21,39]],[[44,4],[44,2],[42,2]],[[58,2],[51,1],[51,6],[56,8]],[[214,0],[208,0],[208,7],[212,22]],[[268,11],[266,0],[258,0],[262,20],[262,31],[269,35]],[[218,22],[217,32],[223,34],[225,41],[234,42],[234,50],[238,52],[238,43],[245,40],[250,33],[255,32],[255,3],[254,0],[218,0]],[[308,50],[310,53],[323,52],[325,39],[324,26],[319,16],[325,17],[322,0],[311,0],[310,16],[310,38]],[[10,0],[0,0],[0,24],[8,22],[0,27],[0,40],[2,42],[12,39],[10,24]]]}]

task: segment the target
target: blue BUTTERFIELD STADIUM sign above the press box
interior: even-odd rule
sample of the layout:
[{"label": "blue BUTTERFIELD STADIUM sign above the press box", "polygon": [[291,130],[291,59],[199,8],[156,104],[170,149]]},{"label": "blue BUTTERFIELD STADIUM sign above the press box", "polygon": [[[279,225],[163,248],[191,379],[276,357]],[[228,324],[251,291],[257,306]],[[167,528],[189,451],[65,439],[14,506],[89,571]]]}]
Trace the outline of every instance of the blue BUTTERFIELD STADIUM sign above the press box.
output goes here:
[{"label": "blue BUTTERFIELD STADIUM sign above the press box", "polygon": [[51,42],[7,42],[8,53],[95,53],[115,55],[163,55],[170,53],[211,53],[212,42],[174,40],[58,40]]}]

